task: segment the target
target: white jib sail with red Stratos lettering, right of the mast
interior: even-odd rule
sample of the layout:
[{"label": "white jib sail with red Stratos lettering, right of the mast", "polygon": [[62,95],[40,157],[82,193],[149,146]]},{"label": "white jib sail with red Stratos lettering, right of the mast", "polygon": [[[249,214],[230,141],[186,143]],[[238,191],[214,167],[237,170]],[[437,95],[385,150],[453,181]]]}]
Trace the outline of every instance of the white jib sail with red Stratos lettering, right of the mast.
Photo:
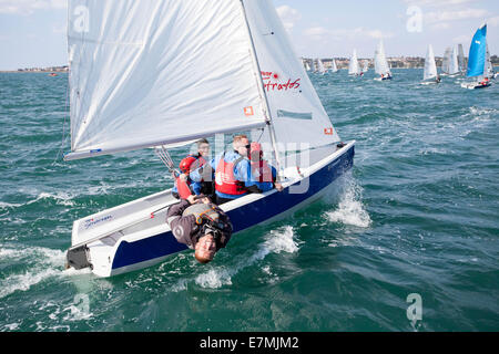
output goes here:
[{"label": "white jib sail with red Stratos lettering, right of the mast", "polygon": [[[339,136],[297,61],[273,2],[251,0],[244,1],[244,6],[281,153],[338,142]],[[252,138],[269,143],[268,128],[254,131]]]}]

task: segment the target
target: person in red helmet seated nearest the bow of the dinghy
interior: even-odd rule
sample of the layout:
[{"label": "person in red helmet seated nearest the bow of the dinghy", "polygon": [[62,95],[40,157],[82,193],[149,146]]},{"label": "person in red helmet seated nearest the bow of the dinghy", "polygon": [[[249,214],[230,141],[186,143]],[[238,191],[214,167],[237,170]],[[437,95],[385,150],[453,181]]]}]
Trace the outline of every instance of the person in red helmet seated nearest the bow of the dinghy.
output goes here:
[{"label": "person in red helmet seated nearest the bow of the dinghy", "polygon": [[253,142],[249,148],[249,160],[252,165],[252,180],[257,183],[262,191],[267,191],[274,187],[277,190],[283,190],[283,186],[276,181],[277,170],[271,166],[267,160],[263,158],[262,145]]}]

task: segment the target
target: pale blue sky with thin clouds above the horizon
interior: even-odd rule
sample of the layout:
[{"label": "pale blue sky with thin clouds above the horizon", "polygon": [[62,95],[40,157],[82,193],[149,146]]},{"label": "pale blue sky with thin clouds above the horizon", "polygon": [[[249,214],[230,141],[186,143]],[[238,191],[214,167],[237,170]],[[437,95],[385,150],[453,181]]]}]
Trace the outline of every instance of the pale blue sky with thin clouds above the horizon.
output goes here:
[{"label": "pale blue sky with thin clouds above the horizon", "polygon": [[[105,1],[105,0],[102,0]],[[373,58],[380,39],[387,56],[437,56],[471,38],[485,21],[490,53],[499,54],[498,0],[271,0],[296,54]],[[0,0],[0,70],[65,65],[67,0]]]}]

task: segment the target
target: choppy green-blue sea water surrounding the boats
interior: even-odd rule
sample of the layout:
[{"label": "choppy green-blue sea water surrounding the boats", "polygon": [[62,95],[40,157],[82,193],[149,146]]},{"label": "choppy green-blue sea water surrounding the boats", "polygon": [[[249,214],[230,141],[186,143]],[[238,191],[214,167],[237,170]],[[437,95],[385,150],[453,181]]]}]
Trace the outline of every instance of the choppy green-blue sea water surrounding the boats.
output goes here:
[{"label": "choppy green-blue sea water surrounding the boats", "polygon": [[357,142],[320,201],[208,266],[100,279],[64,271],[72,221],[170,187],[166,169],[151,150],[62,162],[67,76],[0,74],[0,331],[497,331],[499,83],[373,76],[310,74]]}]

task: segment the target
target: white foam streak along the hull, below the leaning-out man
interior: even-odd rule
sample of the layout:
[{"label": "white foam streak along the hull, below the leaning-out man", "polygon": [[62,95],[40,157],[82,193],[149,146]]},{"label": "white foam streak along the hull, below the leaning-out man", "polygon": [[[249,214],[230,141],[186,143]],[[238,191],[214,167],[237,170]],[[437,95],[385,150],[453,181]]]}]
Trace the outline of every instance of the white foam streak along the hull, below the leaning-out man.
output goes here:
[{"label": "white foam streak along the hull, below the leaning-out man", "polygon": [[216,289],[223,285],[232,284],[232,277],[242,269],[253,266],[263,260],[269,253],[288,252],[294,253],[299,250],[298,243],[294,240],[295,233],[293,227],[285,226],[277,230],[272,230],[266,237],[265,242],[251,257],[245,258],[231,269],[225,267],[213,268],[207,272],[197,275],[196,284],[202,288]]}]

